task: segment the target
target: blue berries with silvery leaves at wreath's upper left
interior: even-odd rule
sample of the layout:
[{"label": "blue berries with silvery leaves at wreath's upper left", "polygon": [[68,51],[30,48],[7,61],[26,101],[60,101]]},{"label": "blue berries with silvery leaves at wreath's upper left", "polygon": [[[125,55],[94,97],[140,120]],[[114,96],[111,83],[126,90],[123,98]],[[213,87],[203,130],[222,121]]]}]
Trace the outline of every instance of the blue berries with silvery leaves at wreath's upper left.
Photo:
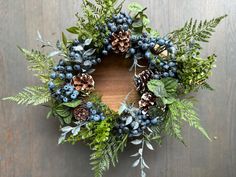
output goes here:
[{"label": "blue berries with silvery leaves at wreath's upper left", "polygon": [[73,61],[73,69],[81,73],[87,73],[94,65],[101,62],[95,54],[96,50],[87,47],[90,42],[81,42],[75,39],[69,48],[69,57]]}]

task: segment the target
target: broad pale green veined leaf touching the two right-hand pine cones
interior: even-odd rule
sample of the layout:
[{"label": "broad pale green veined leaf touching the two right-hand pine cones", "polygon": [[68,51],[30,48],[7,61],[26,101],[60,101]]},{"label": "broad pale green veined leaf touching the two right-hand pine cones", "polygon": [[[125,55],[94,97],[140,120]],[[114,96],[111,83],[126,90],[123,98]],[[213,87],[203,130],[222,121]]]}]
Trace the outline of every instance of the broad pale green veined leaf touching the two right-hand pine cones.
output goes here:
[{"label": "broad pale green veined leaf touching the two right-hand pine cones", "polygon": [[147,84],[148,89],[157,97],[164,98],[167,96],[165,85],[160,80],[150,80]]}]

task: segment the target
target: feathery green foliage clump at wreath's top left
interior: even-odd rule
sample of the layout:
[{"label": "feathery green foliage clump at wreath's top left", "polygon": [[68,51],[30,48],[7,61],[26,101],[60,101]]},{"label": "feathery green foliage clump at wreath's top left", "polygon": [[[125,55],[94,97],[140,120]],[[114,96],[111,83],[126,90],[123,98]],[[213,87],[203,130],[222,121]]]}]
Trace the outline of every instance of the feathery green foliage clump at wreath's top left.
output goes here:
[{"label": "feathery green foliage clump at wreath's top left", "polygon": [[[79,39],[93,39],[94,46],[99,48],[103,45],[103,38],[108,35],[106,20],[121,10],[123,2],[117,6],[117,0],[95,0],[95,2],[83,0],[83,16],[76,14],[77,25],[68,28],[67,31],[77,34]],[[102,34],[99,28],[103,28]]]}]

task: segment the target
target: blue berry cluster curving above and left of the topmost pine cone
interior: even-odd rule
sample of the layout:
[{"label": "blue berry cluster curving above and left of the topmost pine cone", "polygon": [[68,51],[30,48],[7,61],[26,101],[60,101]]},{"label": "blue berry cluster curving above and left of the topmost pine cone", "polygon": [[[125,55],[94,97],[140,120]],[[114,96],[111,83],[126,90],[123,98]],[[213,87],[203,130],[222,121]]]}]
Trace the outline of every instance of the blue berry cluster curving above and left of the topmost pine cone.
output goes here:
[{"label": "blue berry cluster curving above and left of the topmost pine cone", "polygon": [[128,31],[132,23],[132,18],[128,14],[123,12],[120,12],[117,15],[113,15],[112,18],[108,20],[107,28],[109,30],[109,35],[108,38],[104,39],[104,49],[102,50],[103,55],[108,55],[108,53],[112,50],[112,34],[119,31]]}]

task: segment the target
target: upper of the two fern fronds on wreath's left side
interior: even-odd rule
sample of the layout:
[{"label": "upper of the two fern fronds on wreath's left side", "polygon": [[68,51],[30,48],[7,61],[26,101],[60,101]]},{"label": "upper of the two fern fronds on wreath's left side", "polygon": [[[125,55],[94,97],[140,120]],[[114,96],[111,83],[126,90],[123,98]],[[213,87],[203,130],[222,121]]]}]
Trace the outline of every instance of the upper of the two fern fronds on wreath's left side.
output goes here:
[{"label": "upper of the two fern fronds on wreath's left side", "polygon": [[54,66],[53,59],[48,58],[39,51],[29,51],[20,47],[19,49],[25,55],[26,60],[30,63],[28,69],[34,71],[34,75],[43,83],[47,83],[50,80],[50,73]]}]

